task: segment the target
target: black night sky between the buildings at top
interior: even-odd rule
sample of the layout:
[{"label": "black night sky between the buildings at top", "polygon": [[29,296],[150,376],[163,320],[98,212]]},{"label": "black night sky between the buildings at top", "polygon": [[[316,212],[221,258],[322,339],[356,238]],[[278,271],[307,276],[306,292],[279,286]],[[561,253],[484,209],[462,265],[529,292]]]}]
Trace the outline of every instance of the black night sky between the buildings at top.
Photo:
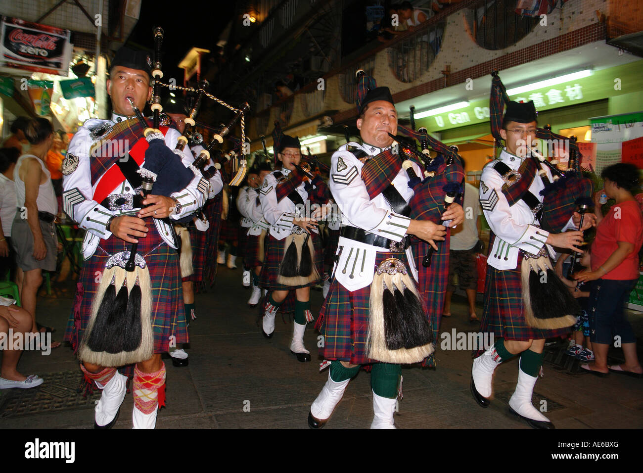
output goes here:
[{"label": "black night sky between the buildings at top", "polygon": [[177,64],[193,47],[215,50],[219,35],[234,13],[235,2],[177,2],[176,5],[177,8],[168,10],[159,8],[156,1],[143,0],[138,23],[127,44],[151,51],[154,47],[152,30],[161,26],[165,32],[161,59],[163,80],[175,77],[177,84],[183,84],[183,70]]}]

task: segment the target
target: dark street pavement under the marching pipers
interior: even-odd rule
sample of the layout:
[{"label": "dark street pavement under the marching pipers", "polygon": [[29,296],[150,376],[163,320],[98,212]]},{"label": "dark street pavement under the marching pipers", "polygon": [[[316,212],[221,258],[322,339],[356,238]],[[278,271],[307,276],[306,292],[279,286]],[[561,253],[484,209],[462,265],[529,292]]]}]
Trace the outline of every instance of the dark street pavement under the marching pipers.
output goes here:
[{"label": "dark street pavement under the marching pipers", "polygon": [[[167,367],[167,407],[158,414],[158,429],[306,429],[307,414],[328,378],[319,371],[320,335],[309,324],[304,337],[312,362],[301,363],[290,353],[292,321],[276,319],[275,336],[264,339],[258,308],[249,308],[249,290],[242,288],[242,270],[219,265],[215,288],[196,296],[197,319],[190,324],[187,367]],[[52,294],[39,298],[37,319],[54,326],[54,340],[62,340],[73,302],[75,283],[52,282]],[[312,311],[318,313],[321,292],[311,292]],[[464,297],[455,295],[452,317],[442,322],[442,333],[475,332]],[[482,306],[478,302],[478,317]],[[643,314],[630,312],[642,348]],[[449,340],[440,339],[440,344]],[[469,391],[471,350],[438,349],[437,369],[405,367],[403,400],[395,413],[401,429],[529,429],[509,414],[507,400],[518,375],[518,360],[503,363],[494,375],[494,399],[482,409]],[[534,405],[557,429],[640,429],[643,427],[643,380],[611,374],[598,378],[579,372],[579,363],[562,355],[560,346],[548,348],[543,377],[536,384]],[[622,359],[611,349],[613,360]],[[36,373],[45,383],[34,389],[0,391],[0,428],[93,428],[97,394],[78,393],[81,374],[68,346],[48,356],[26,351],[19,371]],[[127,394],[115,429],[131,429],[132,396]],[[370,374],[360,371],[349,384],[325,429],[361,429],[373,418]]]}]

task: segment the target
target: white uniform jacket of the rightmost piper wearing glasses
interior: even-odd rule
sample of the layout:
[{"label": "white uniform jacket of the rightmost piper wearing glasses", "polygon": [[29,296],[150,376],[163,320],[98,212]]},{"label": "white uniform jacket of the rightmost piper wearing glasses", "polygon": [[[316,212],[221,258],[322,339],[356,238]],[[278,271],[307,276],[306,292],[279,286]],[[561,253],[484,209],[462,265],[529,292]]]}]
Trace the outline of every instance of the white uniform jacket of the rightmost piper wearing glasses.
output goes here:
[{"label": "white uniform jacket of the rightmost piper wearing glasses", "polygon": [[[518,171],[523,159],[525,158],[508,153],[507,149],[503,149],[498,158],[513,171]],[[539,225],[539,221],[529,208],[529,205],[522,199],[514,203],[512,207],[509,207],[509,202],[505,198],[505,194],[502,193],[502,185],[504,184],[502,176],[500,176],[500,172],[493,168],[494,163],[498,162],[498,160],[487,163],[482,169],[480,205],[485,219],[489,223],[489,228],[496,236],[491,252],[487,257],[487,264],[498,270],[511,270],[516,269],[516,266],[518,266],[519,251],[523,250],[527,253],[537,254],[545,245],[549,232],[535,226]],[[543,168],[551,181],[551,171],[546,166]],[[536,174],[529,191],[542,202],[543,196],[540,195],[540,191],[544,188],[545,184]],[[569,228],[576,228],[571,218],[561,231]],[[556,253],[550,245],[547,245],[547,250],[550,256],[554,257]]]}]

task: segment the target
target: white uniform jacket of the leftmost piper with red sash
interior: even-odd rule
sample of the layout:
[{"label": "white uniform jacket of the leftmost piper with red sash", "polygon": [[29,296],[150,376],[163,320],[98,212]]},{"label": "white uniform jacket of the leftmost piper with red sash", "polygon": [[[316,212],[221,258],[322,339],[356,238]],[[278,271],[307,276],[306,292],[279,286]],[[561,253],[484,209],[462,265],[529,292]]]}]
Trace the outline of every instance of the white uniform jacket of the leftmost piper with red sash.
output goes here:
[{"label": "white uniform jacket of the leftmost piper with red sash", "polygon": [[[78,223],[80,228],[87,230],[82,246],[85,259],[88,259],[94,254],[100,239],[111,237],[111,232],[105,228],[109,218],[120,215],[132,216],[140,210],[109,210],[101,205],[100,202],[93,200],[96,187],[102,178],[99,178],[94,185],[91,184],[91,157],[89,156],[91,145],[107,134],[105,133],[105,127],[101,125],[114,125],[118,118],[123,119],[123,117],[113,115],[112,120],[100,120],[98,118],[90,118],[87,120],[71,139],[66,158],[62,165],[64,190],[62,194],[63,209],[71,219]],[[98,130],[102,133],[98,133]],[[99,134],[102,134],[102,136],[99,136]],[[168,129],[165,134],[165,144],[174,150],[179,136],[181,136],[181,134],[176,129]],[[192,159],[192,154],[189,149],[186,149],[181,155],[181,160],[186,167],[192,164],[194,159]],[[114,166],[116,166],[116,164],[114,164]],[[208,196],[209,187],[208,181],[201,177],[201,173],[195,173],[194,179],[190,181],[185,189],[179,190],[179,192],[173,192],[170,196],[176,198],[181,204],[181,212],[170,216],[170,218],[175,220],[181,219],[192,214],[195,210],[199,209],[199,207],[203,207],[206,196]],[[138,190],[134,189],[129,181],[124,180],[109,195],[114,196],[115,194],[119,194],[120,196],[125,194],[134,195],[138,194]],[[165,243],[172,246],[172,248],[176,248],[172,240],[172,232],[168,225],[160,219],[154,219],[154,225]]]}]

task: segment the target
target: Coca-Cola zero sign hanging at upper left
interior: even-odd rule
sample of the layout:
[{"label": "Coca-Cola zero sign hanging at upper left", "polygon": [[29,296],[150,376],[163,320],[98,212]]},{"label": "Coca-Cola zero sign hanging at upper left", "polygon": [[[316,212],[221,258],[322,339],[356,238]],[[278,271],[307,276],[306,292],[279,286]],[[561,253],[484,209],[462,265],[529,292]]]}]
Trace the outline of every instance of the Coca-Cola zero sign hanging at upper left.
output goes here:
[{"label": "Coca-Cola zero sign hanging at upper left", "polygon": [[69,30],[2,17],[0,65],[68,75],[71,60],[69,35]]}]

